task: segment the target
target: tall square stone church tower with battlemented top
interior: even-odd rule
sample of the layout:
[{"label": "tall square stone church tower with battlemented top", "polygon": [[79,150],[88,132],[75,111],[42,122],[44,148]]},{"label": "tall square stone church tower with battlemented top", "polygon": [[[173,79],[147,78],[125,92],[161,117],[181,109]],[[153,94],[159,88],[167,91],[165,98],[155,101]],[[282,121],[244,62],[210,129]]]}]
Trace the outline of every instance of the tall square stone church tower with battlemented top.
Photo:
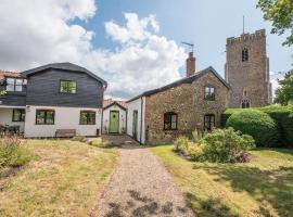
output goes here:
[{"label": "tall square stone church tower with battlemented top", "polygon": [[227,39],[225,79],[230,85],[229,107],[258,107],[271,103],[265,29]]}]

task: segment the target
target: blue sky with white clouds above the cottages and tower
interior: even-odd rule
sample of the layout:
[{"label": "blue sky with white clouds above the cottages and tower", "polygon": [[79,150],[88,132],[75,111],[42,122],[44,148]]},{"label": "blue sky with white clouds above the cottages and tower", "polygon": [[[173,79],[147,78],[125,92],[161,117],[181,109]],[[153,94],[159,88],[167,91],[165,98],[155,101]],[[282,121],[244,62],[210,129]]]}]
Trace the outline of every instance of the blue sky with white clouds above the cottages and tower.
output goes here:
[{"label": "blue sky with white clouds above the cottages and tower", "polygon": [[1,0],[0,68],[52,62],[81,65],[109,82],[106,98],[129,99],[184,76],[194,43],[196,71],[224,76],[226,39],[265,28],[271,81],[292,67],[293,49],[271,35],[255,0]]}]

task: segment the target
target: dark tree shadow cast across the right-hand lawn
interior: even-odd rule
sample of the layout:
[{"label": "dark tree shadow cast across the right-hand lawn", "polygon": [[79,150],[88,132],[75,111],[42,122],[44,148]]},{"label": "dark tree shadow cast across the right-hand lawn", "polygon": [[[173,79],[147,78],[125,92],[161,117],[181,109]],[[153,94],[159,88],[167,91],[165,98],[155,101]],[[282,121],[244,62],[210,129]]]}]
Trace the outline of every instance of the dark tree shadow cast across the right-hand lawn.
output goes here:
[{"label": "dark tree shadow cast across the right-hand lawn", "polygon": [[271,216],[266,208],[269,203],[279,216],[293,216],[293,167],[262,170],[243,165],[194,165],[193,168],[217,176],[216,181],[229,182],[234,191],[251,194],[262,204],[258,215]]}]

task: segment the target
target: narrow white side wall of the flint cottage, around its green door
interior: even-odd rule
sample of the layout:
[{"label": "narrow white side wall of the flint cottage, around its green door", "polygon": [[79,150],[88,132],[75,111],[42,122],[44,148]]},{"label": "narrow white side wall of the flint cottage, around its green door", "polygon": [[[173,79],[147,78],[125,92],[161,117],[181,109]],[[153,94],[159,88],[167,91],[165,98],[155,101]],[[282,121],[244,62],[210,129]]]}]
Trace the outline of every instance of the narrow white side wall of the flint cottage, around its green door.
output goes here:
[{"label": "narrow white side wall of the flint cottage, around its green door", "polygon": [[[142,104],[142,111],[141,111]],[[133,111],[138,111],[138,141],[144,143],[145,141],[145,129],[144,129],[144,113],[145,113],[145,98],[139,98],[127,103],[127,135],[133,137],[132,135],[132,122],[133,122]],[[142,112],[142,113],[141,113]],[[141,132],[141,133],[140,133]]]}]

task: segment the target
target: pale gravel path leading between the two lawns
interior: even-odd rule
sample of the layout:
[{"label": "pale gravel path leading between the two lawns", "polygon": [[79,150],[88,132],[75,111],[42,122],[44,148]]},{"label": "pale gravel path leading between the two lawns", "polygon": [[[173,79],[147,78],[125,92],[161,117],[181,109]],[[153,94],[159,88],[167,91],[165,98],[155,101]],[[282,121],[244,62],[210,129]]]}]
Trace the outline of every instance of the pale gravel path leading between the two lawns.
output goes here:
[{"label": "pale gravel path leading between the two lawns", "polygon": [[118,166],[91,217],[194,216],[166,168],[148,149],[124,145],[119,153]]}]

